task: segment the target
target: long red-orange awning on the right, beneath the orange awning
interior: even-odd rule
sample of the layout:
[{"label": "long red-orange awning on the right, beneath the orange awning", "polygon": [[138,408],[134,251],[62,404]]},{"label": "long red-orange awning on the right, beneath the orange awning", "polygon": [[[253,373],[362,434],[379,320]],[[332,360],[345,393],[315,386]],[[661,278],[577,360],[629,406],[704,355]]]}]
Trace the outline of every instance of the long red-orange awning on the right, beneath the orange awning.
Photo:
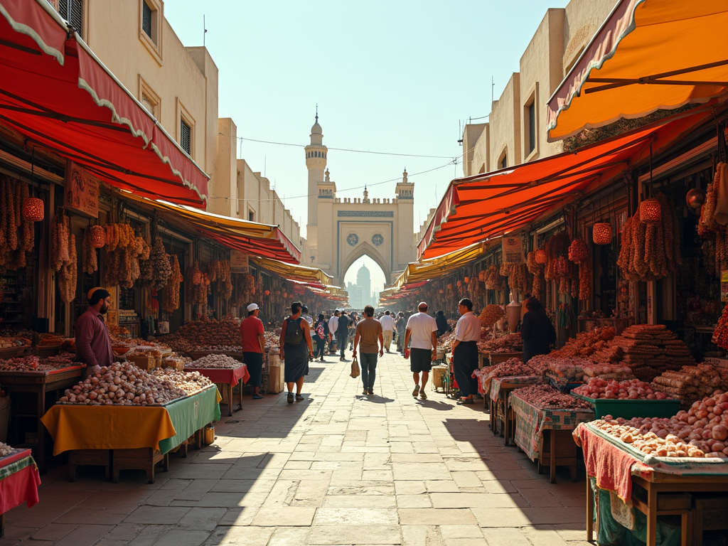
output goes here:
[{"label": "long red-orange awning on the right, beneath the orange awning", "polygon": [[656,154],[712,116],[700,107],[575,153],[454,180],[419,242],[418,257],[442,256],[553,213],[648,158],[650,145]]}]

